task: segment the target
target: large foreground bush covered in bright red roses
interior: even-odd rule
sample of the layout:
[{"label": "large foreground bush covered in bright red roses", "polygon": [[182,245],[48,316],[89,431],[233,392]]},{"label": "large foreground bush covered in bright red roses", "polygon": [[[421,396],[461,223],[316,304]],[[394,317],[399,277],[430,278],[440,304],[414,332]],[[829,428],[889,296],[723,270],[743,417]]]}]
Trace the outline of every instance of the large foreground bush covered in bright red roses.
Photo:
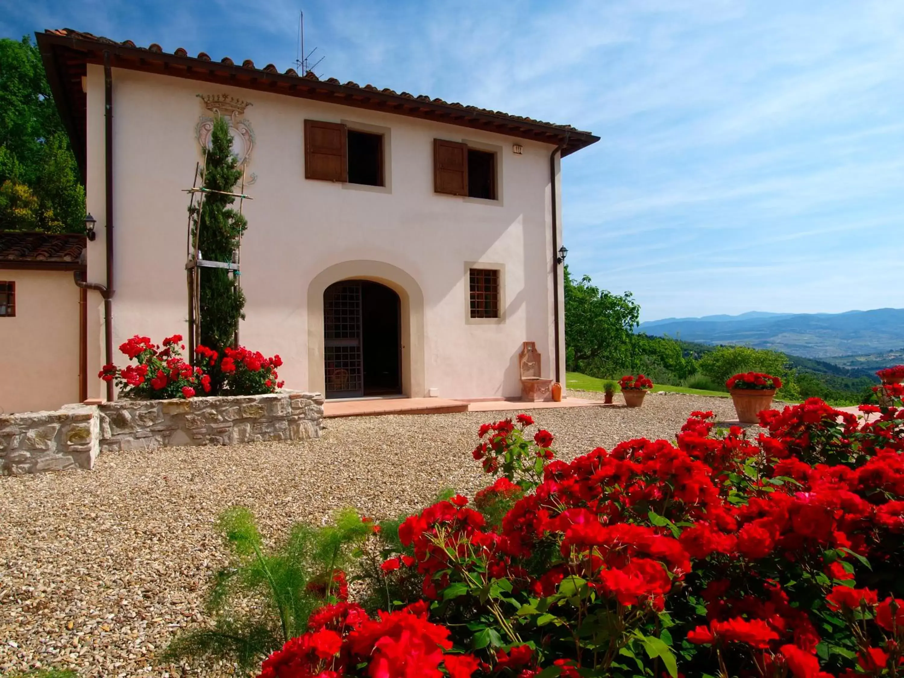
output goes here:
[{"label": "large foreground bush covered in bright red roses", "polygon": [[900,405],[695,411],[571,461],[485,424],[492,485],[372,537],[386,609],[322,607],[260,676],[904,676]]}]

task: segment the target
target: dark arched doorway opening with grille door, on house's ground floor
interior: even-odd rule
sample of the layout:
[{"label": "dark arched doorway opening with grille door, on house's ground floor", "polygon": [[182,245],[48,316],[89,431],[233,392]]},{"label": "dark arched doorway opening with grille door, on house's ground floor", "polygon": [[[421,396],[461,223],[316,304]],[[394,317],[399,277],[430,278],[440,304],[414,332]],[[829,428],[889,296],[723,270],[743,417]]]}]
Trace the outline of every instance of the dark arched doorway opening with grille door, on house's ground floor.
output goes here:
[{"label": "dark arched doorway opening with grille door, on house's ground floor", "polygon": [[342,280],[324,291],[327,398],[401,393],[399,295],[372,280]]}]

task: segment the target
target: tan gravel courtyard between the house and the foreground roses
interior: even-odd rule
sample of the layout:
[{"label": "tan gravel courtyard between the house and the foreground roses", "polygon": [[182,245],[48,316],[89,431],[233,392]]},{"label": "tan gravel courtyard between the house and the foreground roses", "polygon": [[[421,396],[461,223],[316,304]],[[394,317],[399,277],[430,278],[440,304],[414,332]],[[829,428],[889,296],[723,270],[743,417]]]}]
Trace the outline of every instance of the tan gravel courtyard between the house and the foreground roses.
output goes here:
[{"label": "tan gravel courtyard between the house and the foreground roses", "polygon": [[[640,410],[532,416],[570,459],[627,438],[673,439],[692,410],[734,418],[729,399],[678,394],[650,394]],[[232,675],[157,659],[203,619],[207,579],[226,557],[212,532],[223,509],[250,507],[278,539],[345,505],[381,519],[444,487],[473,494],[485,484],[470,455],[476,428],[515,413],[327,419],[324,437],[305,443],[123,452],[89,472],[0,477],[0,673],[40,664],[85,676]]]}]

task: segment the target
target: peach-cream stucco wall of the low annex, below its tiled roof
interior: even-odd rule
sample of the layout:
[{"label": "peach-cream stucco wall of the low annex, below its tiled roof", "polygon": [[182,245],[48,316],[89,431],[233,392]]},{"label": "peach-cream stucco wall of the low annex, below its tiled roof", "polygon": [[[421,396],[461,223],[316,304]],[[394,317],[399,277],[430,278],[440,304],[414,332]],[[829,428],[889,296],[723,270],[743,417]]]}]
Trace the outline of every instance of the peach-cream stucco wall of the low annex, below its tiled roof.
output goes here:
[{"label": "peach-cream stucco wall of the low annex, below its tiled roof", "polygon": [[0,317],[0,413],[79,401],[79,288],[71,271],[0,268],[15,316]]}]

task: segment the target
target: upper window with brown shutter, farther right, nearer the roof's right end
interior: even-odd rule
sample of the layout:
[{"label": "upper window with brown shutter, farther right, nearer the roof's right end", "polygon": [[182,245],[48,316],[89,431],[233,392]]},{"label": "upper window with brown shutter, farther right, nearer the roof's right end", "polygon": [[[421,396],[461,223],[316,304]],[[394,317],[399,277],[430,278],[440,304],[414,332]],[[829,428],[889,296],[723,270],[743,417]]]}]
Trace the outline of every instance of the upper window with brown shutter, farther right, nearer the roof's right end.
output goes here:
[{"label": "upper window with brown shutter, farther right, nearer the roof's right end", "polygon": [[496,154],[446,139],[433,140],[433,190],[496,200]]}]

